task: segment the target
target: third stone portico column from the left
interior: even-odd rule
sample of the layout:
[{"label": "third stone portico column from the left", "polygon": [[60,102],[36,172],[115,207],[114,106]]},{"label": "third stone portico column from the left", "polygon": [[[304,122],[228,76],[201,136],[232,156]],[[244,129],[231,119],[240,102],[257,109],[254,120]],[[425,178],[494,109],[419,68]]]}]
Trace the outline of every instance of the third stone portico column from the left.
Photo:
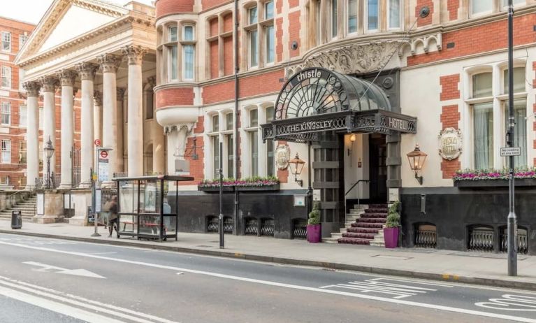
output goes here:
[{"label": "third stone portico column from the left", "polygon": [[74,143],[73,86],[76,73],[71,70],[61,70],[57,73],[57,77],[61,81],[61,182],[59,188],[70,189],[73,171],[71,151]]}]

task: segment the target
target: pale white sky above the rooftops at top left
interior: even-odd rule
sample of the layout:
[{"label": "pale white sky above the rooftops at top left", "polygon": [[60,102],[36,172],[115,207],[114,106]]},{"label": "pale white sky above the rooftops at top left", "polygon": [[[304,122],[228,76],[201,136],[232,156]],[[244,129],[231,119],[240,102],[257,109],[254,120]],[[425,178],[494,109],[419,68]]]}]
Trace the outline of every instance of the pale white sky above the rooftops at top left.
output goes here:
[{"label": "pale white sky above the rooftops at top left", "polygon": [[[6,0],[2,0],[4,2]],[[140,3],[151,4],[154,0],[136,0]],[[6,1],[8,2],[8,1]],[[53,0],[15,0],[9,1],[8,4],[3,4],[0,10],[2,17],[13,18],[16,20],[22,20],[24,22],[30,22],[31,24],[38,24],[41,17],[45,14],[48,7]],[[123,5],[129,3],[129,0],[105,0],[104,2],[117,3]],[[31,9],[29,9],[31,8]]]}]

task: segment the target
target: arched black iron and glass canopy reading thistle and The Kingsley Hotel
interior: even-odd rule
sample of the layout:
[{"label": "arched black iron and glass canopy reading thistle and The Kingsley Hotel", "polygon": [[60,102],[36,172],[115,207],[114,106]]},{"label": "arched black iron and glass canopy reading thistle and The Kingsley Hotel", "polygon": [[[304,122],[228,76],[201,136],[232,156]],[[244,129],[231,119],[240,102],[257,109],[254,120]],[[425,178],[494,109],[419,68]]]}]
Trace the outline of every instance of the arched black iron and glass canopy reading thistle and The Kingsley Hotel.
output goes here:
[{"label": "arched black iron and glass canopy reading thistle and The Kingsley Hotel", "polygon": [[304,69],[284,85],[263,140],[317,141],[320,131],[417,133],[417,118],[394,113],[377,85],[321,68]]}]

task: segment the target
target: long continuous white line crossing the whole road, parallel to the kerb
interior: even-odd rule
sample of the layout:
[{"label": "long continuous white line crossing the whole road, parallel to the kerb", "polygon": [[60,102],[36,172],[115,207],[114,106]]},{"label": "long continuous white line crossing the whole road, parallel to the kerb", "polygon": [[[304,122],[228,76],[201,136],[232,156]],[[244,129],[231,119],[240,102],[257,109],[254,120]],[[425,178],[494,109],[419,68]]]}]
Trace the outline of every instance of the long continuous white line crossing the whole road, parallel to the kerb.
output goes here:
[{"label": "long continuous white line crossing the whole road, parallel to the kerb", "polygon": [[479,310],[467,310],[465,308],[453,308],[451,306],[441,306],[441,305],[428,304],[428,303],[418,303],[418,302],[414,302],[414,301],[404,301],[404,300],[400,300],[400,299],[387,299],[385,297],[363,295],[363,294],[355,294],[355,293],[349,293],[349,292],[339,292],[339,291],[334,291],[334,290],[330,290],[330,289],[321,289],[321,288],[317,288],[317,287],[306,287],[306,286],[299,286],[299,285],[290,285],[290,284],[284,284],[284,283],[281,283],[281,282],[270,282],[270,281],[267,281],[267,280],[256,280],[256,279],[252,279],[252,278],[244,278],[244,277],[238,277],[238,276],[233,276],[233,275],[225,275],[225,274],[220,274],[220,273],[210,273],[210,272],[207,272],[207,271],[196,271],[196,270],[191,270],[191,269],[187,269],[187,268],[178,268],[178,267],[173,267],[173,266],[150,264],[150,263],[145,263],[145,262],[142,262],[142,261],[132,261],[132,260],[126,260],[126,259],[108,258],[108,257],[103,257],[103,256],[97,256],[97,255],[94,255],[94,254],[85,254],[85,253],[82,253],[82,252],[55,250],[55,249],[51,249],[51,248],[48,248],[48,247],[34,247],[34,246],[31,246],[31,245],[20,245],[20,244],[17,244],[17,243],[6,243],[6,242],[2,242],[2,241],[0,241],[0,244],[2,244],[2,245],[11,245],[11,246],[14,246],[14,247],[22,247],[22,248],[27,248],[27,249],[32,249],[32,250],[57,252],[57,253],[61,253],[61,254],[71,254],[71,255],[80,256],[80,257],[88,257],[88,258],[94,258],[94,259],[116,261],[116,262],[122,262],[124,264],[136,264],[136,265],[147,266],[147,267],[152,267],[152,268],[169,269],[169,270],[172,270],[172,271],[182,271],[182,272],[186,272],[186,273],[197,273],[197,274],[200,274],[200,275],[208,275],[208,276],[212,276],[212,277],[226,278],[226,279],[230,279],[230,280],[239,280],[239,281],[243,281],[243,282],[253,282],[253,283],[256,283],[256,284],[262,284],[262,285],[268,285],[268,286],[285,287],[285,288],[291,288],[291,289],[305,290],[305,291],[308,291],[308,292],[320,292],[320,293],[325,293],[325,294],[334,294],[334,295],[356,297],[358,299],[370,299],[372,301],[383,301],[383,302],[386,302],[386,303],[396,303],[396,304],[402,304],[402,305],[407,305],[407,306],[417,306],[417,307],[421,307],[421,308],[430,308],[430,309],[433,309],[433,310],[444,310],[444,311],[447,311],[447,312],[462,313],[462,314],[468,314],[468,315],[477,315],[477,316],[483,316],[483,317],[494,317],[494,318],[498,318],[498,319],[512,320],[512,321],[516,321],[516,322],[536,323],[536,320],[529,319],[529,318],[526,318],[526,317],[516,317],[516,316],[512,316],[512,315],[486,313],[486,312],[482,312],[482,311],[479,311]]}]

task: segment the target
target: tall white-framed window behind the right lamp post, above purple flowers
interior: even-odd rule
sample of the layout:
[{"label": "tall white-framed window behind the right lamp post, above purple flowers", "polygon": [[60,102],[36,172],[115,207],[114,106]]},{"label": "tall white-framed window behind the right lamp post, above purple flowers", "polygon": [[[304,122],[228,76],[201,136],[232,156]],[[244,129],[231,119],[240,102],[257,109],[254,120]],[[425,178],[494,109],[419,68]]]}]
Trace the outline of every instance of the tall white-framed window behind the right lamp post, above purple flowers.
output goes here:
[{"label": "tall white-framed window behind the right lamp post, above purple flowers", "polygon": [[[508,70],[501,73],[484,71],[471,76],[470,108],[472,112],[473,166],[476,169],[500,168],[495,160],[498,145],[506,145],[504,134],[508,127]],[[495,81],[497,80],[497,81]],[[502,91],[493,89],[502,85]],[[516,167],[527,166],[527,100],[524,67],[514,68],[514,145],[521,155],[514,157]]]}]

